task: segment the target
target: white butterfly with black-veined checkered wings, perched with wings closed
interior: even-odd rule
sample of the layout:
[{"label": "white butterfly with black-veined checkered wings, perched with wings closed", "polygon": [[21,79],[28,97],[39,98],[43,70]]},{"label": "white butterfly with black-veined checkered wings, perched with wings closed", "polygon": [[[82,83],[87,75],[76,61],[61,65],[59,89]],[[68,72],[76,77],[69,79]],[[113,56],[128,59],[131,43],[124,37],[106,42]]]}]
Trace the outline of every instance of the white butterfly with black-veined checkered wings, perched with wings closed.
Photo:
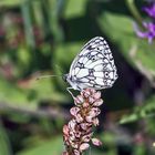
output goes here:
[{"label": "white butterfly with black-veined checkered wings, perched with wings closed", "polygon": [[71,85],[68,87],[69,92],[70,89],[82,91],[87,87],[112,87],[117,78],[112,52],[102,37],[93,38],[81,49],[71,64],[70,72],[63,76]]}]

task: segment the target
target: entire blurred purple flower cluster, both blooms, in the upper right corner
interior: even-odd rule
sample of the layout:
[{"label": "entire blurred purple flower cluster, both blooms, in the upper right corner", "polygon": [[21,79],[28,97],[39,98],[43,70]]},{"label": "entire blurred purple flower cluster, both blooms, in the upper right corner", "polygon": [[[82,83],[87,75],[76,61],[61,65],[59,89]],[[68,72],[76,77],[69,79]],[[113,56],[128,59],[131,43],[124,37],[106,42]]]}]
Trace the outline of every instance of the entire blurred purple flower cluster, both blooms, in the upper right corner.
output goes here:
[{"label": "entire blurred purple flower cluster, both blooms, in the upper right corner", "polygon": [[151,18],[151,21],[143,22],[145,31],[141,31],[137,29],[137,27],[135,27],[135,31],[140,38],[147,38],[148,42],[152,43],[152,41],[155,39],[155,2],[151,2],[149,6],[144,7],[143,10]]}]

